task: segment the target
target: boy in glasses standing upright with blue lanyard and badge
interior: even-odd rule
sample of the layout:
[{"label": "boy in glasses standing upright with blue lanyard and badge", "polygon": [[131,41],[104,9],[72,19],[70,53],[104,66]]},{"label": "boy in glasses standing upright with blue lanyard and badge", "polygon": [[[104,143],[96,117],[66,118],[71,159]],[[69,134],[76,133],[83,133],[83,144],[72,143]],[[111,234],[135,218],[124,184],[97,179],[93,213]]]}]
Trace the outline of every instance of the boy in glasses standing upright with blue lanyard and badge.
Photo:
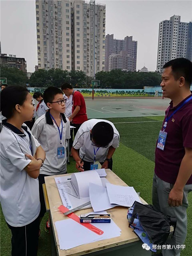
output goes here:
[{"label": "boy in glasses standing upright with blue lanyard and badge", "polygon": [[[32,128],[32,134],[46,152],[39,175],[40,218],[43,218],[46,212],[42,187],[44,177],[67,173],[66,139],[70,139],[70,122],[64,115],[65,101],[59,88],[47,88],[44,91],[44,102],[49,110],[36,120]],[[49,230],[50,220],[47,220],[45,231]]]}]

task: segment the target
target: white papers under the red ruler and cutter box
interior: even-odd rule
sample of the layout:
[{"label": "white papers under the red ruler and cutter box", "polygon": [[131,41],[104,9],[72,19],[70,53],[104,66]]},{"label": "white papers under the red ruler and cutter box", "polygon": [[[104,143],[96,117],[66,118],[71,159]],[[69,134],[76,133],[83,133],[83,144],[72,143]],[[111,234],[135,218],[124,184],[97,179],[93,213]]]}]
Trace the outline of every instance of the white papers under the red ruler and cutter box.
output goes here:
[{"label": "white papers under the red ruler and cutter box", "polygon": [[[90,212],[88,214],[107,214],[107,212]],[[92,223],[93,226],[104,231],[97,235],[72,219],[55,222],[61,250],[68,250],[82,244],[89,244],[121,235],[121,229],[113,220],[111,223]]]}]

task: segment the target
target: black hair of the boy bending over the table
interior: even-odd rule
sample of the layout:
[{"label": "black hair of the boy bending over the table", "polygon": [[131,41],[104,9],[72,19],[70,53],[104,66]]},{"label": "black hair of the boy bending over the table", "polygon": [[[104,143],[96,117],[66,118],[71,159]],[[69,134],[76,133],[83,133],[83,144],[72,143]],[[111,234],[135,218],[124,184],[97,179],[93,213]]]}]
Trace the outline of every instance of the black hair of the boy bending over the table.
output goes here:
[{"label": "black hair of the boy bending over the table", "polygon": [[92,128],[92,140],[98,147],[107,147],[113,140],[114,130],[107,122],[98,122]]}]

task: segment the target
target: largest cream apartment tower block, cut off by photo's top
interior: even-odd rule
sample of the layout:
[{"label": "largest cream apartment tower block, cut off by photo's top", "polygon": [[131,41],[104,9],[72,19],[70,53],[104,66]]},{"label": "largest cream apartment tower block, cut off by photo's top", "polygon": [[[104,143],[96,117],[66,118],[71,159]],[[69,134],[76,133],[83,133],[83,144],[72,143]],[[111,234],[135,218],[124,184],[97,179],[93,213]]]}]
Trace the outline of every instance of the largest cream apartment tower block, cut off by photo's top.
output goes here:
[{"label": "largest cream apartment tower block, cut off by photo's top", "polygon": [[36,26],[39,68],[82,70],[92,77],[104,70],[104,4],[36,0]]}]

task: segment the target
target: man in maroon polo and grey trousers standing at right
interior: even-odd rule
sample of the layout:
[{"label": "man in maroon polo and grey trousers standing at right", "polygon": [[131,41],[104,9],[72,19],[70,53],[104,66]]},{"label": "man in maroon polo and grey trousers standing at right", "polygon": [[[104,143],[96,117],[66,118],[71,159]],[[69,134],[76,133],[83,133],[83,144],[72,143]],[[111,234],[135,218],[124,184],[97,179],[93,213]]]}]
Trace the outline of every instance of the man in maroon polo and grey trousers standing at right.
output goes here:
[{"label": "man in maroon polo and grey trousers standing at right", "polygon": [[155,152],[153,205],[157,211],[176,217],[174,237],[164,256],[179,256],[187,235],[188,193],[192,191],[192,63],[170,60],[162,74],[163,96],[170,98]]}]

